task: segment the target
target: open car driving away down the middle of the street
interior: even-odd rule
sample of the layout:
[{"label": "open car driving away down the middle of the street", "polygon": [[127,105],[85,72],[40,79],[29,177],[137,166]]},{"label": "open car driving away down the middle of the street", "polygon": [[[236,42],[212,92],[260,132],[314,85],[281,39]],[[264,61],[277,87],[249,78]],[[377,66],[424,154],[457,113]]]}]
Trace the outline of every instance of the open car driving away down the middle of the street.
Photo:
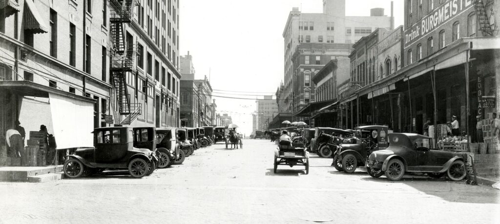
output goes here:
[{"label": "open car driving away down the middle of the street", "polygon": [[279,147],[274,150],[274,173],[278,165],[305,166],[305,174],[309,173],[309,152],[303,147],[295,146],[290,141],[279,141]]}]

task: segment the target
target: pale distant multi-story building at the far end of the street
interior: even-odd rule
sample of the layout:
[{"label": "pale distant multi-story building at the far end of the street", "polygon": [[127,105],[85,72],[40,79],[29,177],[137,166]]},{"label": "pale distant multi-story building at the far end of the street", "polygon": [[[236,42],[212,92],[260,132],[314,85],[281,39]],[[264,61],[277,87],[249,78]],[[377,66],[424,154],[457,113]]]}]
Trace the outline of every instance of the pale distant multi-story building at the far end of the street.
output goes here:
[{"label": "pale distant multi-story building at the far end of the street", "polygon": [[278,113],[276,99],[273,99],[272,95],[264,95],[263,99],[257,99],[255,102],[257,103],[256,130],[266,130],[274,114]]}]

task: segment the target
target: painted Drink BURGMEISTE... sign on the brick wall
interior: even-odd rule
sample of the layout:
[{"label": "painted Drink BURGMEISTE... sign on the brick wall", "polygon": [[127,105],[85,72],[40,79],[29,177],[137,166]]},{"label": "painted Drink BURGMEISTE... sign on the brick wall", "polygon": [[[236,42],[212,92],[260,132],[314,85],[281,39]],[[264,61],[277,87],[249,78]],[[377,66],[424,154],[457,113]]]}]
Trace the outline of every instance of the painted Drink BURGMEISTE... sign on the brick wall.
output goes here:
[{"label": "painted Drink BURGMEISTE... sign on the brick wall", "polygon": [[[473,0],[447,0],[432,12],[423,16],[421,20],[417,21],[410,28],[404,30],[404,48],[408,47],[425,34],[435,30],[440,25],[450,21],[473,5]],[[413,17],[416,16],[416,10],[418,9],[413,8]],[[451,24],[446,27],[451,27]],[[462,25],[462,27],[466,26]]]}]

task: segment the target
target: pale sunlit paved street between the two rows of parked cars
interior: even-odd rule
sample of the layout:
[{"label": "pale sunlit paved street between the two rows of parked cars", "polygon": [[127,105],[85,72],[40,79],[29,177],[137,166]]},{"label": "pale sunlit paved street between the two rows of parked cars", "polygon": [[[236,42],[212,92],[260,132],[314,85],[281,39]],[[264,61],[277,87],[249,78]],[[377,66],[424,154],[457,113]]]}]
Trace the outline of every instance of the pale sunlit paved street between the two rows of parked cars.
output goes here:
[{"label": "pale sunlit paved street between the two rows of parked cars", "polygon": [[[500,191],[444,179],[374,179],[336,171],[331,159],[272,172],[268,140],[216,144],[182,165],[125,175],[0,183],[0,223],[496,223]],[[496,215],[496,217],[494,217]]]}]

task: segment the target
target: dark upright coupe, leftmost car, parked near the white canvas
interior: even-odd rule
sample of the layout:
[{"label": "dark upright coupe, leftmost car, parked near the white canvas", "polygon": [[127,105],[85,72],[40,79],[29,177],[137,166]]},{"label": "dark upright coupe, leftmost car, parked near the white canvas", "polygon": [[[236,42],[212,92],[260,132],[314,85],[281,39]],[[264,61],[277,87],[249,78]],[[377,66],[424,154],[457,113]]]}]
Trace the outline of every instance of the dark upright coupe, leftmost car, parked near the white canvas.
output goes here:
[{"label": "dark upright coupe, leftmost car, parked near the white canvas", "polygon": [[[63,170],[67,177],[79,177],[85,170],[128,169],[132,177],[140,178],[151,173],[150,167],[158,162],[154,151],[133,146],[132,127],[99,127],[92,132],[94,147],[78,148],[66,156]],[[144,137],[148,135],[144,133]]]}]

